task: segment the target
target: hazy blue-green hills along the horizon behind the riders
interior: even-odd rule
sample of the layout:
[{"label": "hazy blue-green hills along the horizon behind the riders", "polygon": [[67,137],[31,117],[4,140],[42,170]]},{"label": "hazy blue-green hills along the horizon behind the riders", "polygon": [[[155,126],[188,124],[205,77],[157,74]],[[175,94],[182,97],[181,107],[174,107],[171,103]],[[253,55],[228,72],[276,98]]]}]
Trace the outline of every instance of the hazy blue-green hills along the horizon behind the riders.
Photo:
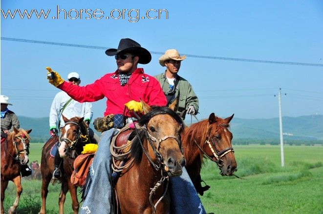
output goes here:
[{"label": "hazy blue-green hills along the horizon behind the riders", "polygon": [[[19,116],[23,129],[32,129],[33,142],[45,142],[49,138],[48,117]],[[301,117],[282,117],[284,139],[322,140],[323,115]],[[93,128],[93,125],[91,124]],[[231,121],[234,139],[279,139],[279,119],[241,119],[234,117]]]}]

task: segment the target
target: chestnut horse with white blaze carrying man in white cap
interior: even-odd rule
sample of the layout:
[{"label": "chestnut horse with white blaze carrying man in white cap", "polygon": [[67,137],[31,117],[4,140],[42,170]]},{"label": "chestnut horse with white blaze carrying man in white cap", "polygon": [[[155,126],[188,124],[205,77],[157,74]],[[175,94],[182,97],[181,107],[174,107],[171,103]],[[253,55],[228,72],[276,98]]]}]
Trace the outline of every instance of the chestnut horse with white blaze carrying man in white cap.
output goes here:
[{"label": "chestnut horse with white blaze carrying man in white cap", "polygon": [[83,121],[83,117],[72,117],[69,120],[63,116],[65,126],[62,128],[62,133],[60,139],[57,136],[51,137],[43,146],[42,161],[41,161],[41,171],[42,171],[42,207],[39,214],[46,213],[46,197],[48,194],[48,185],[52,179],[54,172],[54,157],[50,155],[50,150],[53,145],[59,141],[59,153],[63,157],[63,167],[61,167],[62,172],[62,186],[61,193],[59,195],[59,214],[64,213],[64,202],[66,193],[69,190],[72,198],[72,209],[74,214],[78,213],[79,202],[76,194],[76,186],[74,186],[70,177],[73,172],[73,162],[75,157],[81,154],[83,151],[83,146],[89,142],[87,134],[87,124]]}]

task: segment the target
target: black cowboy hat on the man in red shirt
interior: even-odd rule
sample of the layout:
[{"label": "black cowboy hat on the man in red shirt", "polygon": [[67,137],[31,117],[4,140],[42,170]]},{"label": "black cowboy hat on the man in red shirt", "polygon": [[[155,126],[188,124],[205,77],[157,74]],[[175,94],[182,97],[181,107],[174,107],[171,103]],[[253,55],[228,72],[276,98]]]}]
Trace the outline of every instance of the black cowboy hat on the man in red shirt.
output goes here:
[{"label": "black cowboy hat on the man in red shirt", "polygon": [[151,61],[151,53],[149,53],[149,51],[145,48],[141,47],[138,42],[129,38],[121,39],[118,49],[110,48],[106,50],[106,55],[114,56],[120,52],[135,54],[139,57],[138,63],[140,64],[148,64]]}]

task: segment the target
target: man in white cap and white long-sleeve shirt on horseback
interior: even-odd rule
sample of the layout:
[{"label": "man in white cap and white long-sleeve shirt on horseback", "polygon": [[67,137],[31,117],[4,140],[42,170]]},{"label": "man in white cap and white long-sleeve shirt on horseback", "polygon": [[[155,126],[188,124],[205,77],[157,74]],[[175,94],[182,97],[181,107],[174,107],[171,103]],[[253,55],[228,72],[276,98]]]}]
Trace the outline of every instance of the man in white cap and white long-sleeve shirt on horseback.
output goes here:
[{"label": "man in white cap and white long-sleeve shirt on horseback", "polygon": [[[67,79],[74,85],[81,83],[80,75],[76,72],[69,73]],[[72,117],[84,117],[84,121],[89,125],[93,116],[92,104],[90,102],[80,103],[69,97],[64,91],[57,93],[49,113],[49,134],[51,136],[58,136],[58,128],[61,129],[65,126],[62,115],[68,119]],[[90,128],[88,128],[88,135],[92,143],[99,142],[99,137]],[[62,159],[57,149],[54,158],[53,179],[61,179],[60,166],[62,166]]]}]

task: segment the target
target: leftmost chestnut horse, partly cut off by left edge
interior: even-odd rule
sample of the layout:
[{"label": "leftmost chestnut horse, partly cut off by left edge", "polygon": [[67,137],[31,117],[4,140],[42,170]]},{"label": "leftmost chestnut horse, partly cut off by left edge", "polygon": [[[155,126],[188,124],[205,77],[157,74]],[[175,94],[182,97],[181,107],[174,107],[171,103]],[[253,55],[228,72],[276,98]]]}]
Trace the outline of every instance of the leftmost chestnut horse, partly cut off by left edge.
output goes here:
[{"label": "leftmost chestnut horse, partly cut off by left edge", "polygon": [[22,194],[21,185],[21,167],[28,163],[29,154],[29,133],[30,130],[16,129],[9,133],[6,140],[1,143],[1,214],[3,210],[4,191],[8,186],[9,180],[15,183],[17,188],[17,197],[10,207],[8,213],[15,213],[19,204],[19,198]]}]

